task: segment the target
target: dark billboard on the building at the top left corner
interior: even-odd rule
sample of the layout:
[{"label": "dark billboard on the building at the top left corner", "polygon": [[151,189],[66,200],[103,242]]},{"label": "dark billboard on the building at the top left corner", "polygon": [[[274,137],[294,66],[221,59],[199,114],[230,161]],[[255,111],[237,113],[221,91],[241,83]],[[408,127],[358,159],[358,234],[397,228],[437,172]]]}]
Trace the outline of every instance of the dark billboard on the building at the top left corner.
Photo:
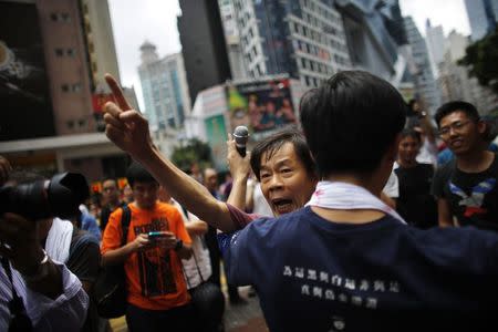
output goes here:
[{"label": "dark billboard on the building at the top left corner", "polygon": [[0,141],[55,135],[34,3],[0,2]]}]

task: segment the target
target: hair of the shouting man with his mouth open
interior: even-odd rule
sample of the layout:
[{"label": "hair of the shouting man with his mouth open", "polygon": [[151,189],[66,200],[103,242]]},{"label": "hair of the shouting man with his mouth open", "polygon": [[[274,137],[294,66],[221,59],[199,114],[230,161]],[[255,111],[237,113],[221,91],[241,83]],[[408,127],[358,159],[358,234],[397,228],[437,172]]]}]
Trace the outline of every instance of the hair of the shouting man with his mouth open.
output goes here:
[{"label": "hair of the shouting man with his mouth open", "polygon": [[295,128],[280,131],[263,141],[259,142],[251,152],[251,168],[258,180],[261,170],[261,158],[266,154],[267,160],[270,159],[286,143],[291,143],[295,155],[303,164],[309,176],[317,176],[313,158],[308,147],[304,136]]}]

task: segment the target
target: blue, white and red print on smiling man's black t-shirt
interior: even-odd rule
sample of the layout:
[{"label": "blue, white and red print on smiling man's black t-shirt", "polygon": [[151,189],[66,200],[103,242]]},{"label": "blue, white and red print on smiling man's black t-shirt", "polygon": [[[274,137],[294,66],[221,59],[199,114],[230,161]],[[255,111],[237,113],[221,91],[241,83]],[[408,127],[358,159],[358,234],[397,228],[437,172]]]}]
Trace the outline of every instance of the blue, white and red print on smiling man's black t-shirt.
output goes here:
[{"label": "blue, white and red print on smiling man's black t-shirt", "polygon": [[483,208],[485,195],[491,191],[496,186],[496,178],[487,178],[484,181],[473,187],[470,195],[467,195],[463,189],[453,183],[449,183],[449,190],[452,194],[461,197],[458,205],[465,206],[464,216],[469,218],[474,215],[484,215],[487,209]]}]

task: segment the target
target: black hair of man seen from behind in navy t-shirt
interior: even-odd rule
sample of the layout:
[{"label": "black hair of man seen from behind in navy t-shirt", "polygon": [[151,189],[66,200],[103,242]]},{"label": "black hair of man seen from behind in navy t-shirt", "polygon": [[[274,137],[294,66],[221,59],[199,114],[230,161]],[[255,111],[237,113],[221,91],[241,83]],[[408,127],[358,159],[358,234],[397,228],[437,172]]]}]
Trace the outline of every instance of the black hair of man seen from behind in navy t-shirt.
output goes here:
[{"label": "black hair of man seen from behind in navy t-shirt", "polygon": [[407,106],[388,82],[343,71],[301,100],[301,123],[321,176],[378,167],[403,129]]}]

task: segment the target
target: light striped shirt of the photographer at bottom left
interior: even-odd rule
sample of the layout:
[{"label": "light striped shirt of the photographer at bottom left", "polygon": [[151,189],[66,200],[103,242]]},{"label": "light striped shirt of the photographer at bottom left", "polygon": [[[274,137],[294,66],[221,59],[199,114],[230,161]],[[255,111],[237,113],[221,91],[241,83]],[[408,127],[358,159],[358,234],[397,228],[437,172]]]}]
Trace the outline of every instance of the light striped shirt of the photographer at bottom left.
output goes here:
[{"label": "light striped shirt of the photographer at bottom left", "polygon": [[[15,292],[24,303],[34,331],[79,331],[86,318],[89,297],[76,276],[59,262],[62,270],[62,294],[52,300],[27,288],[24,279],[11,267]],[[8,331],[10,323],[9,301],[12,300],[12,286],[0,264],[0,331]]]}]

